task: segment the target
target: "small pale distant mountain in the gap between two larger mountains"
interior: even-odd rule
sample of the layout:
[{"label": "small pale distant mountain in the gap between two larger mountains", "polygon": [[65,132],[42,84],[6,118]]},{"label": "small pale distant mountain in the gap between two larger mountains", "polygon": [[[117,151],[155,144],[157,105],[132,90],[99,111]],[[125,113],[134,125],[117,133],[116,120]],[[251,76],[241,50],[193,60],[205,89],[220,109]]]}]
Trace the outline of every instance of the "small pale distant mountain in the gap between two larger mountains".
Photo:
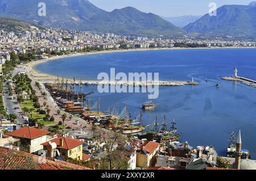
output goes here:
[{"label": "small pale distant mountain in the gap between two larger mountains", "polygon": [[186,16],[175,16],[175,17],[163,17],[163,19],[167,20],[168,22],[171,22],[177,27],[185,27],[189,23],[195,22],[197,19],[201,18],[202,16],[192,16],[192,15],[186,15]]}]

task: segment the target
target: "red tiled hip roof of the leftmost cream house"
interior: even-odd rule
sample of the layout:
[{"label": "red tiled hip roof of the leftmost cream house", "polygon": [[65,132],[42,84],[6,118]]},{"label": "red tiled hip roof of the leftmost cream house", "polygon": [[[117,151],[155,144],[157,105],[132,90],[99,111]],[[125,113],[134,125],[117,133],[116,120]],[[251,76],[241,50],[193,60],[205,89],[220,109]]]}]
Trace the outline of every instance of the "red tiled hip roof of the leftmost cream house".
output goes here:
[{"label": "red tiled hip roof of the leftmost cream house", "polygon": [[33,127],[23,127],[15,131],[6,133],[6,135],[9,135],[9,136],[18,137],[18,138],[28,138],[30,140],[40,136],[44,136],[46,134],[49,134],[49,132],[43,131],[42,129],[33,128]]}]

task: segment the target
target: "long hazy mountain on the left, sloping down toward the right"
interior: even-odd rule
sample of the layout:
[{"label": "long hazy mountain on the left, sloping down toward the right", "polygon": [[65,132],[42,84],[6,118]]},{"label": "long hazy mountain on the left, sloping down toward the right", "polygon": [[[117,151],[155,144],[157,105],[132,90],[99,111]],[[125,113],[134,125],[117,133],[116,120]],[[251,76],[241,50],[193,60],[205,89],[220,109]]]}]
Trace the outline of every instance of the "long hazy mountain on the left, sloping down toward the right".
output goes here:
[{"label": "long hazy mountain on the left, sloping down toward the right", "polygon": [[[38,16],[38,3],[46,3],[46,16]],[[184,30],[152,13],[133,7],[104,11],[87,0],[0,0],[0,16],[42,26],[130,35],[180,35]]]}]

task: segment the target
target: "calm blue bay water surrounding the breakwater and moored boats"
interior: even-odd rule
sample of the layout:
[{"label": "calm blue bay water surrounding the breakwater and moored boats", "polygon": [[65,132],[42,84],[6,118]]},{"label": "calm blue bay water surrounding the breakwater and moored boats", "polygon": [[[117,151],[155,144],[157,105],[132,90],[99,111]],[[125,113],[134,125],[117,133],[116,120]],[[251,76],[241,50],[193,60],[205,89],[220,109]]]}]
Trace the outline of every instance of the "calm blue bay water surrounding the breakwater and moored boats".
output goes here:
[{"label": "calm blue bay water surrounding the breakwater and moored boats", "polygon": [[[227,51],[229,54],[225,53]],[[182,60],[179,58],[181,54]],[[225,77],[237,66],[243,77],[253,79],[255,62],[251,57],[254,56],[256,56],[254,49],[155,50],[64,58],[39,64],[35,69],[46,75],[52,73],[54,75],[51,79],[52,83],[55,82],[57,75],[61,78],[67,77],[69,85],[73,84],[73,77],[77,77],[75,92],[80,92],[80,77],[94,82],[93,77],[97,78],[100,72],[108,72],[113,66],[124,73],[159,72],[159,79],[163,81],[191,80],[193,77],[199,82],[199,86],[159,86],[159,98],[152,100],[159,105],[147,111],[141,109],[141,106],[148,99],[148,94],[102,94],[97,91],[97,85],[82,85],[81,92],[88,94],[93,90],[94,94],[87,98],[90,97],[90,101],[96,103],[100,97],[100,111],[112,107],[113,112],[116,104],[116,110],[120,112],[119,107],[123,108],[127,104],[133,119],[135,119],[134,115],[142,111],[143,126],[154,123],[155,116],[162,119],[166,115],[170,120],[175,119],[177,128],[183,132],[181,140],[188,141],[193,146],[214,145],[218,154],[226,155],[229,142],[228,139],[223,138],[228,138],[231,131],[237,132],[237,128],[243,128],[243,132],[247,132],[251,137],[256,136],[254,131],[256,96],[254,87],[230,83],[220,78]],[[209,60],[205,61],[205,57],[209,57]],[[240,57],[243,57],[243,62],[239,61]],[[96,60],[97,65],[104,64],[105,67],[96,66]],[[144,60],[147,60],[148,65],[143,63]],[[219,87],[216,87],[217,83]],[[93,121],[97,117],[97,107],[83,114],[85,120]],[[109,113],[105,113],[102,117],[102,123],[109,125],[110,128],[113,126],[109,124]],[[170,128],[170,122],[167,124]],[[202,130],[207,131],[202,132]],[[147,131],[151,131],[151,128],[144,129],[144,132]],[[254,158],[256,148],[250,144],[250,138],[247,137],[244,146],[250,150],[251,157]]]}]

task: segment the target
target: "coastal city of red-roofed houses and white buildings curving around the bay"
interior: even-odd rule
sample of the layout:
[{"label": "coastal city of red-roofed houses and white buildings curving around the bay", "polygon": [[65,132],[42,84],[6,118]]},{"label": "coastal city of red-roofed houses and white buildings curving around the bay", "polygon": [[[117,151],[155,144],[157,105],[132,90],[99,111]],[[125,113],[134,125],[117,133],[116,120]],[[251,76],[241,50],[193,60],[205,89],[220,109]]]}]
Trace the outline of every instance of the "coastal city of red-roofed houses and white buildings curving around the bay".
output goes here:
[{"label": "coastal city of red-roofed houses and white buildings curving around the bay", "polygon": [[[1,101],[1,169],[18,169],[11,164],[13,153],[27,169],[243,169],[254,167],[249,151],[241,150],[241,133],[235,140],[232,133],[227,155],[218,155],[211,145],[192,148],[179,142],[175,122],[171,130],[165,118],[152,131],[142,120],[138,126],[126,115],[117,115],[117,108],[101,112],[92,110],[84,100],[93,92],[75,92],[80,80],[71,84],[55,78],[55,83],[42,83],[32,77],[26,65],[31,61],[63,56],[69,53],[97,52],[104,49],[172,48],[176,43],[199,47],[255,47],[252,42],[199,41],[188,38],[164,40],[147,37],[126,37],[111,33],[96,34],[49,29],[46,31],[1,31],[2,101]],[[44,77],[44,79],[46,79]],[[77,83],[76,83],[77,82]],[[69,88],[71,84],[72,89]],[[82,100],[82,101],[77,101]],[[146,103],[144,109],[157,105]],[[95,106],[94,106],[95,107]],[[126,110],[127,111],[127,110]],[[155,119],[155,121],[157,121]],[[238,147],[237,147],[238,146]],[[240,157],[236,157],[236,149]],[[23,153],[27,153],[24,154]],[[40,159],[38,165],[32,160]],[[235,158],[236,157],[236,158]],[[55,159],[49,159],[55,158]],[[44,165],[47,163],[47,167]]]}]

